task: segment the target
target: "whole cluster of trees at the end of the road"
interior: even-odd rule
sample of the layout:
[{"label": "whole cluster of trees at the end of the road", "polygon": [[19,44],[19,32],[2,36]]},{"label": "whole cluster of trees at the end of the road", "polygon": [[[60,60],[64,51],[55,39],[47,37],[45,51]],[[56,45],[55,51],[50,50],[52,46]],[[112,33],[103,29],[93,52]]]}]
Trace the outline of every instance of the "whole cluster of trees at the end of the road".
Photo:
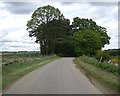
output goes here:
[{"label": "whole cluster of trees at the end of the road", "polygon": [[106,28],[92,19],[75,17],[70,24],[58,8],[50,5],[34,11],[27,30],[30,37],[36,37],[42,55],[94,55],[110,40]]}]

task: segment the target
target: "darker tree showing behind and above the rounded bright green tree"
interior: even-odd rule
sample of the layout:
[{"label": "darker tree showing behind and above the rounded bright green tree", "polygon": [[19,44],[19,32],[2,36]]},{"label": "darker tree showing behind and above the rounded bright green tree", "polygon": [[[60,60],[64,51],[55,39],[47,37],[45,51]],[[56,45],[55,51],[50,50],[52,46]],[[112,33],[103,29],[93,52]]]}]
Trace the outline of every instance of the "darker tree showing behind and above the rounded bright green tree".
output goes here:
[{"label": "darker tree showing behind and above the rounded bright green tree", "polygon": [[107,29],[101,26],[98,26],[95,21],[92,19],[84,19],[75,17],[72,22],[74,32],[78,30],[84,32],[85,30],[92,30],[90,32],[94,32],[99,35],[101,47],[104,47],[105,44],[109,44],[110,37],[107,35]]}]

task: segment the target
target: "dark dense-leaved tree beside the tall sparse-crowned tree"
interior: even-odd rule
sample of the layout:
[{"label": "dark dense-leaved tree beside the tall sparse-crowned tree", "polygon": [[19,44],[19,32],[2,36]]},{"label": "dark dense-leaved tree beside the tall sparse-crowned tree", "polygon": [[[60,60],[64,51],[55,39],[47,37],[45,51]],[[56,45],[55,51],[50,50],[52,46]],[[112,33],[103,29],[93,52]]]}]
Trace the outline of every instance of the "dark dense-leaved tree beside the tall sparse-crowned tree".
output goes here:
[{"label": "dark dense-leaved tree beside the tall sparse-crowned tree", "polygon": [[70,26],[69,19],[53,20],[45,24],[43,32],[47,34],[46,46],[48,47],[46,48],[46,54],[53,54],[57,52],[55,49],[56,45],[60,47],[71,35],[72,27]]}]

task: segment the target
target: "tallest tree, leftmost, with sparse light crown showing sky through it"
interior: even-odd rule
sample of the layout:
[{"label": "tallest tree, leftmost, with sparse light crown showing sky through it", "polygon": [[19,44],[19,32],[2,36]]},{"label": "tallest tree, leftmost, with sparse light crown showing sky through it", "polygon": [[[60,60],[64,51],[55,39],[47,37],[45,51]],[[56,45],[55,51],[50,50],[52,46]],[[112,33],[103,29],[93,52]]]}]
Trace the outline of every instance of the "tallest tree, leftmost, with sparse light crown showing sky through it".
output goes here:
[{"label": "tallest tree, leftmost, with sparse light crown showing sky through it", "polygon": [[29,31],[29,36],[36,37],[36,43],[40,44],[40,51],[42,55],[46,54],[47,44],[47,32],[44,29],[48,22],[53,20],[65,20],[63,14],[58,8],[47,5],[39,7],[32,14],[31,20],[27,22],[27,30]]}]

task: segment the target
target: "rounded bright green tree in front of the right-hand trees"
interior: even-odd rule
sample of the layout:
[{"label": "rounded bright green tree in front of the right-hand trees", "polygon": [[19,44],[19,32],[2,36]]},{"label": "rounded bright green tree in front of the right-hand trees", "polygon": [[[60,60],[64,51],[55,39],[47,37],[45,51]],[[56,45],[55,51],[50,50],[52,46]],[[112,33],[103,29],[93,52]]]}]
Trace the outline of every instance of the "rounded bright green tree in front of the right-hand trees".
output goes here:
[{"label": "rounded bright green tree in front of the right-hand trees", "polygon": [[94,55],[96,50],[101,49],[100,35],[94,30],[86,29],[73,34],[73,44],[77,56]]}]

